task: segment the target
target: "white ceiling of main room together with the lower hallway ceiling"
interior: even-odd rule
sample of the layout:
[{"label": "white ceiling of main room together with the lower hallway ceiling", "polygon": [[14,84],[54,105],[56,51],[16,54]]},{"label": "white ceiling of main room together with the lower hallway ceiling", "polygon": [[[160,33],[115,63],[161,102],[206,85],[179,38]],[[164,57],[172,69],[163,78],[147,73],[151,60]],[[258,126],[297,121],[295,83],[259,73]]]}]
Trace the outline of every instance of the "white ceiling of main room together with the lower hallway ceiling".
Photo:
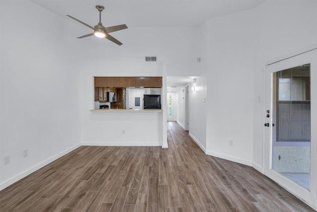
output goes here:
[{"label": "white ceiling of main room together with the lower hallway ceiling", "polygon": [[[99,22],[96,5],[105,6],[104,26],[128,27],[200,26],[207,19],[257,7],[265,0],[30,0],[69,20],[71,15],[88,25]],[[85,26],[84,26],[85,27]],[[167,77],[167,90],[176,91],[191,82],[193,76]],[[176,85],[172,88],[171,85]]]}]

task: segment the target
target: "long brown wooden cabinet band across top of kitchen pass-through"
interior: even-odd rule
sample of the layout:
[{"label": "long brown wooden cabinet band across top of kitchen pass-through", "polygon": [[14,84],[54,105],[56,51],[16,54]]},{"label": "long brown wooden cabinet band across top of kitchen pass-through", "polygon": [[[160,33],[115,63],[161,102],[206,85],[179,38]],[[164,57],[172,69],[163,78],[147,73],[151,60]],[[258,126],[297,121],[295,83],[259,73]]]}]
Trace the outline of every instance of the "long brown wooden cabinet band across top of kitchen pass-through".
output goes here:
[{"label": "long brown wooden cabinet band across top of kitchen pass-through", "polygon": [[162,87],[162,77],[95,77],[95,87]]}]

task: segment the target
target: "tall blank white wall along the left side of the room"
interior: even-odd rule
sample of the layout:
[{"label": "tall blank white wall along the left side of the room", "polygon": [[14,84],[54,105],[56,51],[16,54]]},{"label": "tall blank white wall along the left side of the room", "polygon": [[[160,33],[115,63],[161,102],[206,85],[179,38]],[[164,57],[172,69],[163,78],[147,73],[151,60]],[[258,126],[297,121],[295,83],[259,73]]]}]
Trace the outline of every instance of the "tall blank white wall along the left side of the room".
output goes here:
[{"label": "tall blank white wall along the left side of the room", "polygon": [[75,62],[81,59],[74,27],[48,10],[25,0],[1,1],[0,14],[2,189],[79,145]]}]

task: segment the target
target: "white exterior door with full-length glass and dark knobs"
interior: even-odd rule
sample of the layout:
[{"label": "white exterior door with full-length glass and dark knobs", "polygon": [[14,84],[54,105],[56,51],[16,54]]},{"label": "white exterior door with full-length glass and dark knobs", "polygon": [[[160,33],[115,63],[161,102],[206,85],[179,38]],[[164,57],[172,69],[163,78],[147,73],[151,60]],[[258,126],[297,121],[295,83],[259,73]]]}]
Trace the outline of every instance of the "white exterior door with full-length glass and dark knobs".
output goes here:
[{"label": "white exterior door with full-length glass and dark knobs", "polygon": [[264,74],[264,174],[317,208],[317,50]]}]

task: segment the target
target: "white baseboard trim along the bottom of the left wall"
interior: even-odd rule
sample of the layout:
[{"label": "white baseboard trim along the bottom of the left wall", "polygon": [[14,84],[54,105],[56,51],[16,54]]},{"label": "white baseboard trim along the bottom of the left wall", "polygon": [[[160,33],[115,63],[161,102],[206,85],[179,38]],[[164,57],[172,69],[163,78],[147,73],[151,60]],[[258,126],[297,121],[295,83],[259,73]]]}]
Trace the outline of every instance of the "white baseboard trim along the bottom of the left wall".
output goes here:
[{"label": "white baseboard trim along the bottom of the left wall", "polygon": [[72,147],[66,149],[65,151],[62,151],[62,152],[60,152],[59,154],[56,154],[55,156],[50,157],[49,159],[47,159],[47,160],[45,160],[45,161],[43,161],[43,162],[41,162],[41,163],[39,163],[39,164],[37,164],[37,165],[35,165],[35,166],[29,168],[29,169],[27,169],[26,171],[23,171],[22,173],[20,173],[20,174],[14,176],[14,177],[12,177],[12,178],[10,178],[9,180],[7,180],[7,181],[5,181],[5,182],[1,183],[1,184],[0,184],[0,191],[1,191],[2,189],[6,188],[6,187],[8,187],[8,186],[10,186],[10,185],[12,185],[13,183],[15,183],[15,182],[21,180],[22,178],[28,176],[29,174],[31,174],[31,173],[33,173],[33,172],[39,170],[40,168],[42,168],[42,167],[48,165],[49,163],[53,162],[54,160],[56,160],[56,159],[58,159],[58,158],[64,156],[65,154],[67,154],[67,153],[73,151],[74,149],[76,149],[76,148],[78,148],[78,147],[80,147],[80,146],[81,146],[80,143],[79,143],[79,144],[76,144],[76,145],[74,145],[74,146],[72,146]]}]

